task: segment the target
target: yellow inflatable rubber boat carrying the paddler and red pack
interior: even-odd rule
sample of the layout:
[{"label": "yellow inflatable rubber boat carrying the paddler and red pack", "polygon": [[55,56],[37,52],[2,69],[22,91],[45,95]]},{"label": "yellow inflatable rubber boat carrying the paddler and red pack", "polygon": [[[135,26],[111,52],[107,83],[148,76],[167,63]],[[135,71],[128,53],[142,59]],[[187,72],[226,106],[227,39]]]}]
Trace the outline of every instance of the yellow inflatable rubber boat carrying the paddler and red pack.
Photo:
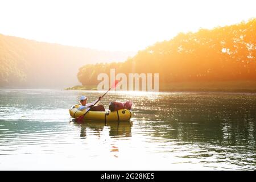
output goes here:
[{"label": "yellow inflatable rubber boat carrying the paddler and red pack", "polygon": [[[86,110],[78,110],[80,104],[74,105],[69,109],[72,118],[78,118],[86,113]],[[129,109],[119,109],[117,111],[88,111],[84,115],[84,121],[129,121],[132,112]]]}]

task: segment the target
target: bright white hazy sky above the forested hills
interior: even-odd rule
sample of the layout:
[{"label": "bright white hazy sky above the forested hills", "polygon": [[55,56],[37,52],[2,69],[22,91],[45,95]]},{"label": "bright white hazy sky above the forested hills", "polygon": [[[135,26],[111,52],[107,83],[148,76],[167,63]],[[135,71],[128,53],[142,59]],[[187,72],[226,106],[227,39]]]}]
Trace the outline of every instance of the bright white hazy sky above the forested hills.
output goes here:
[{"label": "bright white hazy sky above the forested hills", "polygon": [[0,0],[0,34],[111,51],[250,18],[255,0]]}]

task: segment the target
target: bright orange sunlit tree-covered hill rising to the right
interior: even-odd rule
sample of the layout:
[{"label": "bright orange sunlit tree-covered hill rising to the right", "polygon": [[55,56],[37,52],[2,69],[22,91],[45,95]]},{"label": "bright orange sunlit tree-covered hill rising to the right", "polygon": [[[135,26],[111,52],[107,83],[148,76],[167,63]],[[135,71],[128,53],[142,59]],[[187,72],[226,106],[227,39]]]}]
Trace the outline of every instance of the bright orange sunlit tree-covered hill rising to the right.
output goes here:
[{"label": "bright orange sunlit tree-covered hill rising to the right", "polygon": [[98,84],[98,73],[159,73],[171,82],[256,80],[256,19],[197,32],[149,46],[124,63],[85,65],[82,85]]}]

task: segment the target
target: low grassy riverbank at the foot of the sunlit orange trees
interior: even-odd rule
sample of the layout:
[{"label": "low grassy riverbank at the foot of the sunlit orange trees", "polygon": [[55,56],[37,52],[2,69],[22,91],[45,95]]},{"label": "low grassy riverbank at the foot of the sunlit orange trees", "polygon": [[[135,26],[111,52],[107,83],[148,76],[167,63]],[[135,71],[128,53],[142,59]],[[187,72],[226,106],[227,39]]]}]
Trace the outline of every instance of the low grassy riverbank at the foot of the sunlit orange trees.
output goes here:
[{"label": "low grassy riverbank at the foot of the sunlit orange trees", "polygon": [[[65,90],[97,90],[97,85],[76,85]],[[159,92],[256,93],[256,81],[172,82],[170,84],[159,84]]]}]

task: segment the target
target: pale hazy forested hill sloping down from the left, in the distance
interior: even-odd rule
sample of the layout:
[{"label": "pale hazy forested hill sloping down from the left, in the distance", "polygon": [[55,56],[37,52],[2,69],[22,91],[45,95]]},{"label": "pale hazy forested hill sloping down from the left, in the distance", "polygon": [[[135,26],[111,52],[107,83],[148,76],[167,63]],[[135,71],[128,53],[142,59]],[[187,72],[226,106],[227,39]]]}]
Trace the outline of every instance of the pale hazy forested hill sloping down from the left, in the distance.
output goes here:
[{"label": "pale hazy forested hill sloping down from the left, in the distance", "polygon": [[0,88],[65,88],[82,65],[126,60],[133,52],[62,46],[0,34]]}]

